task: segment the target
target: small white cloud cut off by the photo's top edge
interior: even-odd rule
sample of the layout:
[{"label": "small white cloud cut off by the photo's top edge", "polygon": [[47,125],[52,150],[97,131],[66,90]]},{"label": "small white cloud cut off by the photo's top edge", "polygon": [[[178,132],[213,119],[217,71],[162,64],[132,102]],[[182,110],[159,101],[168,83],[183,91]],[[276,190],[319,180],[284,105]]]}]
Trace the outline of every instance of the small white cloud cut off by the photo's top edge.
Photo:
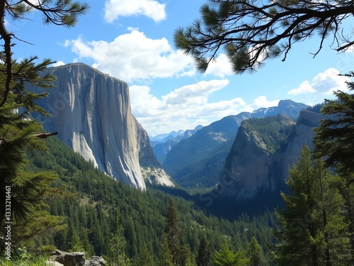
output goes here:
[{"label": "small white cloud cut off by the photo's top edge", "polygon": [[166,4],[154,0],[108,0],[105,2],[105,20],[109,23],[120,16],[143,15],[155,22],[166,19]]}]

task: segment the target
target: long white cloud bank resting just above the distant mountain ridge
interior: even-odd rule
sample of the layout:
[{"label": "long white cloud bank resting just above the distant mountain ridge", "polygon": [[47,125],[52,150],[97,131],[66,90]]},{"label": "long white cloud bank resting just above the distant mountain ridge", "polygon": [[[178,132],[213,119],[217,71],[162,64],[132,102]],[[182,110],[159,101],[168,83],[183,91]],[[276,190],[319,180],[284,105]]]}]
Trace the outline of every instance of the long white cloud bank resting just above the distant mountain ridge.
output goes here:
[{"label": "long white cloud bank resting just above the distant mountain ridge", "polygon": [[207,126],[225,116],[261,107],[277,106],[278,101],[268,101],[265,96],[247,104],[241,98],[212,102],[212,94],[229,84],[228,79],[213,79],[174,89],[157,98],[147,86],[130,87],[132,113],[149,135],[178,129]]}]

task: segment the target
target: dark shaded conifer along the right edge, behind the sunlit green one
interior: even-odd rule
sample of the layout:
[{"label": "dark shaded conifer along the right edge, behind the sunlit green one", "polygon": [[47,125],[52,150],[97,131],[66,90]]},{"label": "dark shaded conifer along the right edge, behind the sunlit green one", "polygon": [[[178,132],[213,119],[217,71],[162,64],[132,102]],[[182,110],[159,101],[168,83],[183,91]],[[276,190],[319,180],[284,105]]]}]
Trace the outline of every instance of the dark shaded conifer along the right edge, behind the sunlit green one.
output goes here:
[{"label": "dark shaded conifer along the right edge, behind the sunlit green one", "polygon": [[[354,77],[354,72],[345,75]],[[346,222],[350,235],[350,254],[354,260],[354,82],[347,82],[351,93],[334,92],[336,99],[325,99],[321,113],[327,118],[315,128],[314,155],[324,158],[327,167],[334,167],[342,177],[338,189],[343,196]]]}]

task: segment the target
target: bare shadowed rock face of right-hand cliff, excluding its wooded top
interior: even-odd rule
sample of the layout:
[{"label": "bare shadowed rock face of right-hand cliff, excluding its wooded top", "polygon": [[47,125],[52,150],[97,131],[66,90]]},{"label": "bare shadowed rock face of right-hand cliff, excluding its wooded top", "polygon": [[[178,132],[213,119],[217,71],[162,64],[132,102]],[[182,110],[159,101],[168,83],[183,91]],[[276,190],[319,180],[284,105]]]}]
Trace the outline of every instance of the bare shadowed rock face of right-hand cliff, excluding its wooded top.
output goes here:
[{"label": "bare shadowed rock face of right-hand cliff, excluding its wooded top", "polygon": [[220,179],[220,184],[227,184],[224,196],[245,200],[252,199],[258,192],[279,189],[289,176],[289,167],[297,162],[302,147],[313,148],[313,128],[319,126],[322,118],[321,113],[302,110],[286,148],[275,153],[268,153],[256,131],[241,126]]}]

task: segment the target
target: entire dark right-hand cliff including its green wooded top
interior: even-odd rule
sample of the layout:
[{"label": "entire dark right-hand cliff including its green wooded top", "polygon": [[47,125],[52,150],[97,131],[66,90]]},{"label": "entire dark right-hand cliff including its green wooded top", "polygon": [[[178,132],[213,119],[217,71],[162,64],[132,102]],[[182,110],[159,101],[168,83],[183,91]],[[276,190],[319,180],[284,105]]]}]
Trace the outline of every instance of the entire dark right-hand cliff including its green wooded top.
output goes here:
[{"label": "entire dark right-hand cliff including its green wooded top", "polygon": [[260,192],[278,195],[288,177],[289,167],[297,162],[301,148],[304,145],[313,147],[313,128],[322,118],[321,113],[302,110],[297,123],[281,115],[273,120],[273,124],[267,121],[254,126],[259,122],[244,121],[220,179],[220,184],[227,184],[222,185],[223,196],[246,200]]}]

